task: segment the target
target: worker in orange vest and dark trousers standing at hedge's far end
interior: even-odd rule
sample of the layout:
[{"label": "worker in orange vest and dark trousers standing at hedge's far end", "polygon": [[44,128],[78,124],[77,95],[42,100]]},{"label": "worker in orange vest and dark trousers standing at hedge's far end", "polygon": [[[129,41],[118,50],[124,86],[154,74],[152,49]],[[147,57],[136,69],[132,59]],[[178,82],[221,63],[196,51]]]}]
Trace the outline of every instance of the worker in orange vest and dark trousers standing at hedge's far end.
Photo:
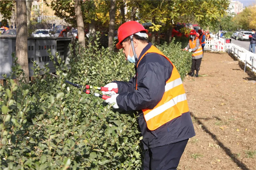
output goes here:
[{"label": "worker in orange vest and dark trousers standing at hedge's far end", "polygon": [[[200,70],[200,65],[203,57],[203,49],[200,44],[199,38],[196,37],[197,32],[193,29],[189,33],[189,42],[184,48],[184,50],[188,50],[189,52],[193,52],[192,54],[192,66],[191,66],[191,77],[198,77],[198,73]],[[197,73],[195,74],[195,70]]]}]

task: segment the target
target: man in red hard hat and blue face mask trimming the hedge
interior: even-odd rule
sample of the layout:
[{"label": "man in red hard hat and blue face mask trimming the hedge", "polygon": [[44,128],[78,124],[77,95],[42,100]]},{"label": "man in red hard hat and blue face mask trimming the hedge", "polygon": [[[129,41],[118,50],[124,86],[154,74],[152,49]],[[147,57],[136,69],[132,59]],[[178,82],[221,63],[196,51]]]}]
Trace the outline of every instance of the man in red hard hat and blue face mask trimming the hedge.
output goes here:
[{"label": "man in red hard hat and blue face mask trimming the hedge", "polygon": [[[195,131],[180,74],[159,49],[148,42],[147,29],[135,21],[122,24],[117,49],[135,64],[129,82],[107,84],[106,102],[113,108],[139,112],[138,123],[146,150],[144,170],[176,169]],[[112,92],[118,88],[118,93]],[[104,94],[105,94],[104,93]]]}]

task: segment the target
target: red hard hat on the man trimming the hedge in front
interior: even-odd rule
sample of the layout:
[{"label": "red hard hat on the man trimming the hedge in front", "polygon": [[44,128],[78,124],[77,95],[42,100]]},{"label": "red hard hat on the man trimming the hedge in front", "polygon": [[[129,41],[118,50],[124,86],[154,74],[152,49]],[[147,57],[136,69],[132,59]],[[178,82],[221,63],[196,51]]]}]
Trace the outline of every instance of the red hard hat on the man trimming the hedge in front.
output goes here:
[{"label": "red hard hat on the man trimming the hedge in front", "polygon": [[121,42],[130,35],[134,35],[135,33],[146,31],[148,33],[148,30],[145,29],[139,22],[136,21],[128,21],[122,24],[117,31],[117,37],[118,37],[118,43],[116,45],[117,49],[121,49],[122,45]]}]

